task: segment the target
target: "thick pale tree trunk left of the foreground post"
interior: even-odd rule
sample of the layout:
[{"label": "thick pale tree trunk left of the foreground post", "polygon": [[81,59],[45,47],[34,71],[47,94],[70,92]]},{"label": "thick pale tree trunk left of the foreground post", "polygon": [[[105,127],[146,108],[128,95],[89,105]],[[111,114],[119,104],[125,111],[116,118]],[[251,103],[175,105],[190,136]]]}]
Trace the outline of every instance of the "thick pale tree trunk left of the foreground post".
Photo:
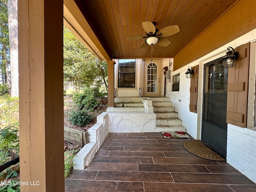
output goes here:
[{"label": "thick pale tree trunk left of the foreground post", "polygon": [[8,0],[8,28],[10,41],[11,96],[19,96],[18,71],[18,0]]}]

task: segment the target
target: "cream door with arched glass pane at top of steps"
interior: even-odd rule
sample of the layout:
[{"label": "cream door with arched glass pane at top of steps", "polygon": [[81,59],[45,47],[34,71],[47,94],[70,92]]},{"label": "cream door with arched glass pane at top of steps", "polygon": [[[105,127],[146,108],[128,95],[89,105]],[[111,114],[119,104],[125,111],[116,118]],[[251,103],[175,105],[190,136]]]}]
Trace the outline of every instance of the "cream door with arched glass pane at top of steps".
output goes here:
[{"label": "cream door with arched glass pane at top of steps", "polygon": [[151,59],[144,62],[144,96],[160,97],[161,92],[161,60]]}]

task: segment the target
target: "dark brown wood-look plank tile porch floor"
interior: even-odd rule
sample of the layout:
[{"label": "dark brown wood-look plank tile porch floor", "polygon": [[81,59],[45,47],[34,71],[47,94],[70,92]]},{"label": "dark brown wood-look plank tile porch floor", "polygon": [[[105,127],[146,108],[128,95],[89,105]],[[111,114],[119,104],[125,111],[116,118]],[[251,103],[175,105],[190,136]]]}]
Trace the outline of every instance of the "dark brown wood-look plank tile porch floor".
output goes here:
[{"label": "dark brown wood-look plank tile porch floor", "polygon": [[226,162],[187,152],[187,139],[161,133],[110,133],[84,170],[73,170],[66,192],[256,192],[256,184]]}]

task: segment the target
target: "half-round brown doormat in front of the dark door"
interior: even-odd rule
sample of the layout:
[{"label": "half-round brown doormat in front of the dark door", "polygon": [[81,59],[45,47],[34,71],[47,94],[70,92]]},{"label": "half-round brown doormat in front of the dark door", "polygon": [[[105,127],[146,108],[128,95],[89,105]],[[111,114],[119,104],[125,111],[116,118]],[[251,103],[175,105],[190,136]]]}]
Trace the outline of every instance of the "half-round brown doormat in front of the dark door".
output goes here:
[{"label": "half-round brown doormat in front of the dark door", "polygon": [[183,143],[183,147],[190,153],[212,161],[226,161],[218,153],[211,150],[200,140],[188,140]]}]

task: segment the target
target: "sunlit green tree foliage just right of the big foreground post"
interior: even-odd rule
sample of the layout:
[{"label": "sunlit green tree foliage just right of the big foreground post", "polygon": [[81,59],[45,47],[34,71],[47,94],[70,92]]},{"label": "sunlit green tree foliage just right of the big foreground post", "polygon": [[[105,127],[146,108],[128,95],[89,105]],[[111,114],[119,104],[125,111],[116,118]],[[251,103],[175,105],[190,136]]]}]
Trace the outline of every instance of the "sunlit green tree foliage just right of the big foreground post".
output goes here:
[{"label": "sunlit green tree foliage just right of the big foreground post", "polygon": [[[107,64],[96,57],[64,26],[64,81],[80,88],[100,86],[107,77]],[[107,86],[106,86],[107,88]]]}]

